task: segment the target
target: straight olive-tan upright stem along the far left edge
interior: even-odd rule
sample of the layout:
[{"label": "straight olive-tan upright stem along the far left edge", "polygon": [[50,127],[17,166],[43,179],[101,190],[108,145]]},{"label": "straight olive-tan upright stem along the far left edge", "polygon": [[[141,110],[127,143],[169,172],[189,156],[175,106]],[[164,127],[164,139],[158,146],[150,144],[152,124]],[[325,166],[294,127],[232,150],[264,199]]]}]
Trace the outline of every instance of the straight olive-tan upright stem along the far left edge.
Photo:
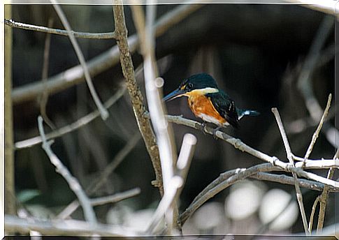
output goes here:
[{"label": "straight olive-tan upright stem along the far left edge", "polygon": [[[10,18],[11,6],[5,5],[5,17]],[[12,29],[5,27],[5,213],[16,214],[13,149],[13,106],[12,106]]]}]

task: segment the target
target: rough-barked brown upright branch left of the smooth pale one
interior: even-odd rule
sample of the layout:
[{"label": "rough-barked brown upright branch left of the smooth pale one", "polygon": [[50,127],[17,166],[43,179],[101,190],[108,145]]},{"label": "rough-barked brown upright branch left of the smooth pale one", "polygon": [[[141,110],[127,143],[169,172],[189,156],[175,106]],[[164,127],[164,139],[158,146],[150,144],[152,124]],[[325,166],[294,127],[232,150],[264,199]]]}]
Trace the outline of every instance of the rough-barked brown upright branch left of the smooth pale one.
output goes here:
[{"label": "rough-barked brown upright branch left of the smooth pale one", "polygon": [[161,196],[164,195],[161,176],[161,164],[159,157],[159,149],[149,119],[146,116],[145,105],[143,105],[143,96],[136,82],[134,75],[134,66],[129,52],[129,45],[127,43],[127,28],[124,20],[124,6],[121,0],[113,1],[113,13],[115,20],[115,33],[117,34],[117,46],[120,50],[120,62],[122,66],[122,73],[126,79],[127,90],[131,98],[131,103],[138,122],[138,127],[143,140],[145,141],[146,149],[150,154],[154,172],[156,175],[157,187],[159,188]]}]

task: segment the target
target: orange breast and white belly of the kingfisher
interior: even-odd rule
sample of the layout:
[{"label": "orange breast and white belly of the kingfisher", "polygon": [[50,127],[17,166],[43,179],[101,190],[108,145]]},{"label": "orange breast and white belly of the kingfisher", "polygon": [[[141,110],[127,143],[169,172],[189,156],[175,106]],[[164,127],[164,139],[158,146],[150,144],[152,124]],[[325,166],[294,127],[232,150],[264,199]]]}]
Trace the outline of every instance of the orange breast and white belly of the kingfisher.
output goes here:
[{"label": "orange breast and white belly of the kingfisher", "polygon": [[200,117],[204,121],[212,122],[217,125],[226,123],[226,120],[220,116],[217,110],[215,110],[210,98],[201,94],[191,94],[188,97],[189,108],[196,117]]}]

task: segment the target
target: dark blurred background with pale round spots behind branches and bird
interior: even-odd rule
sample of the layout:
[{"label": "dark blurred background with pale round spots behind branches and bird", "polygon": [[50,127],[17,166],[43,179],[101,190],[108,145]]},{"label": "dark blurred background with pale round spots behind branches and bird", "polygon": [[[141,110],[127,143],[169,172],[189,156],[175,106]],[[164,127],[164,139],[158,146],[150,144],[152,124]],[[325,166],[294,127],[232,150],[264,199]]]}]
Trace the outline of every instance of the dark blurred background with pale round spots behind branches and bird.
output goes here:
[{"label": "dark blurred background with pale round spots behind branches and bird", "polygon": [[[62,8],[75,31],[114,31],[111,6],[66,5]],[[158,6],[158,17],[173,8],[175,5]],[[129,6],[125,6],[124,9],[127,29],[131,36],[135,33],[131,9]],[[48,20],[52,18],[54,20],[52,27],[63,29],[50,5],[13,5],[12,10],[13,20],[17,22],[48,26]],[[227,128],[227,133],[264,153],[286,159],[280,133],[271,113],[271,107],[277,107],[287,128],[292,151],[297,156],[304,156],[316,126],[310,126],[306,121],[309,114],[296,87],[296,80],[324,16],[323,13],[296,5],[203,6],[157,38],[156,53],[157,59],[161,59],[159,68],[160,75],[165,80],[164,93],[178,87],[178,84],[189,75],[210,73],[217,80],[219,87],[236,101],[238,107],[261,112],[259,117],[242,119],[239,130]],[[14,88],[41,80],[45,37],[45,33],[13,29]],[[85,58],[92,59],[115,45],[115,40],[78,38],[78,43]],[[333,43],[334,28],[325,48]],[[138,52],[133,54],[133,59],[134,66],[140,66],[142,57]],[[69,39],[65,36],[52,35],[48,75],[55,75],[75,65],[78,65],[78,59]],[[334,94],[334,70],[333,57],[319,66],[312,77],[313,90],[322,107],[326,105],[329,93]],[[102,100],[112,96],[123,81],[119,64],[93,78]],[[143,75],[139,75],[137,79],[145,93]],[[173,100],[167,107],[169,114],[183,114],[189,119],[194,119],[186,99]],[[92,112],[95,105],[86,84],[81,83],[51,95],[46,110],[52,122],[59,128]],[[36,120],[40,111],[38,99],[14,105],[13,111],[15,142],[38,135]],[[88,186],[99,177],[117,152],[135,133],[138,133],[127,94],[110,107],[109,112],[110,117],[106,122],[98,118],[73,133],[55,139],[52,145],[53,151],[78,178],[82,186]],[[333,115],[330,114],[331,123],[334,123]],[[306,127],[295,127],[292,123],[297,120],[304,121]],[[173,128],[177,144],[181,143],[185,133],[193,133],[198,137],[187,183],[182,192],[181,211],[221,172],[261,163],[259,159],[242,153],[225,142],[216,141],[210,135],[204,135],[185,126]],[[334,152],[326,137],[320,135],[311,158],[332,158]],[[317,173],[323,176],[326,174],[325,171]],[[338,178],[338,173],[334,178]],[[145,222],[143,218],[149,217],[160,198],[159,191],[150,183],[153,179],[150,158],[140,140],[95,195],[108,195],[134,187],[139,187],[141,194],[118,204],[95,207],[99,220],[103,223],[126,225]],[[264,220],[262,217],[264,214],[262,208],[279,209],[264,204],[267,191],[280,188],[280,195],[273,194],[275,197],[273,201],[271,198],[271,201],[285,202],[286,205],[279,206],[287,209],[289,197],[295,196],[294,186],[259,181],[245,181],[239,184],[224,190],[199,209],[185,225],[184,233],[255,234],[271,231],[276,234],[303,231],[301,219],[297,216],[298,208],[294,208],[294,212],[292,211],[287,217],[288,220],[285,220],[291,224],[282,229],[264,228],[260,232],[262,225],[267,222],[267,219]],[[238,192],[240,195],[232,195],[241,189],[245,190]],[[57,215],[66,204],[75,199],[66,181],[55,172],[40,144],[15,151],[15,192],[20,207],[25,207],[33,215],[44,217]],[[284,200],[286,194],[287,200]],[[305,191],[307,216],[310,216],[317,195],[318,193],[314,191]],[[232,213],[232,208],[238,212],[238,216]],[[293,206],[291,208],[293,209]],[[242,210],[245,211],[243,215],[240,213]],[[72,216],[82,218],[81,209],[75,211]],[[325,220],[325,225],[335,221],[333,194],[330,194]]]}]

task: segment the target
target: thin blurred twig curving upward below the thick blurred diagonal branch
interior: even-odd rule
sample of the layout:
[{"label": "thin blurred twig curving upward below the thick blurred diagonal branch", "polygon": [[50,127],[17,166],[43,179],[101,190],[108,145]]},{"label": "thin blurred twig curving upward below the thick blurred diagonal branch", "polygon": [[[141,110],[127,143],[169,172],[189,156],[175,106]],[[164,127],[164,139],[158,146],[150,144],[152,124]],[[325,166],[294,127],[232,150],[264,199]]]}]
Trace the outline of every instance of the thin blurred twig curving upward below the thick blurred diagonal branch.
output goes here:
[{"label": "thin blurred twig curving upward below the thick blurred diagonal branch", "polygon": [[[105,103],[103,103],[103,106],[108,109],[111,107],[114,103],[117,102],[125,93],[126,86],[122,84],[119,89],[117,89],[116,93],[108,98]],[[82,126],[86,126],[88,123],[92,122],[94,119],[100,116],[99,110],[94,110],[93,112],[85,115],[84,117],[81,117],[77,121],[64,126],[62,128],[59,128],[57,130],[52,131],[51,133],[46,134],[46,140],[50,140],[56,137],[61,137],[62,135],[65,135],[67,133],[73,132],[73,130],[77,130],[81,128]],[[15,149],[25,149],[27,147],[33,147],[36,144],[41,143],[41,136],[31,137],[27,140],[22,140],[19,142],[15,142]]]}]

